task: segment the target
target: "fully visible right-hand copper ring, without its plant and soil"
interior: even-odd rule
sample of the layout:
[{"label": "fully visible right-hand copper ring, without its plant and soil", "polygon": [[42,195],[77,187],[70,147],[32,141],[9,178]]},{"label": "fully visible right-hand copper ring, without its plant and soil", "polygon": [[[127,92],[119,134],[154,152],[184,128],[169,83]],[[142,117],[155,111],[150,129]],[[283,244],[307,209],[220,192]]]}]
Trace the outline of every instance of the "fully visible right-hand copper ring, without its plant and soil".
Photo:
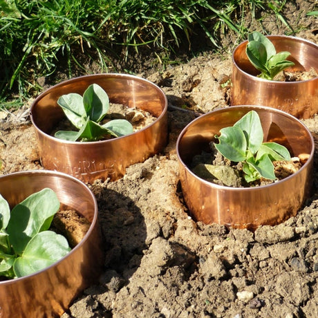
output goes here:
[{"label": "fully visible right-hand copper ring, without its plant and soil", "polygon": [[[193,156],[208,151],[208,143],[223,127],[232,126],[245,113],[259,113],[264,141],[285,145],[292,156],[309,159],[296,174],[263,187],[234,188],[209,183],[191,172]],[[180,183],[185,202],[197,221],[254,230],[275,225],[297,214],[310,191],[314,141],[310,131],[288,113],[261,106],[232,106],[202,115],[187,125],[177,141]]]}]

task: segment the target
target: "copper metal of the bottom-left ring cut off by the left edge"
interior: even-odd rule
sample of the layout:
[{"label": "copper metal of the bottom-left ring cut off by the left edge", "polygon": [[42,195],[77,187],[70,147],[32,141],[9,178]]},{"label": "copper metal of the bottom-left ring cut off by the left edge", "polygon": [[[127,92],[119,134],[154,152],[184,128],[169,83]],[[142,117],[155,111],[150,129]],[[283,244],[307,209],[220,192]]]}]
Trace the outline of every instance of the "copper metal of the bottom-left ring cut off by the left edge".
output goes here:
[{"label": "copper metal of the bottom-left ring cut off by the left edge", "polygon": [[32,275],[0,282],[0,317],[59,317],[74,297],[95,283],[104,257],[100,248],[97,203],[88,187],[54,171],[24,171],[0,177],[0,194],[11,207],[49,187],[62,205],[91,222],[83,240],[63,259]]}]

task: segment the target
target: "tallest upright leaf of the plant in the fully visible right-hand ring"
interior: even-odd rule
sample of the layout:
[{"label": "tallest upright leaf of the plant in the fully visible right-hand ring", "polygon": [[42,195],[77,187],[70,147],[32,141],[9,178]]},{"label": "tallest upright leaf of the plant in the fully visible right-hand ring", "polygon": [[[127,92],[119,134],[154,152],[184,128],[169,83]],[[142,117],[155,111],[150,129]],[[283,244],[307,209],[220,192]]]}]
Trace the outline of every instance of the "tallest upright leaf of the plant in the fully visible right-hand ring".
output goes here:
[{"label": "tallest upright leaf of the plant in the fully visible right-hand ring", "polygon": [[256,111],[249,111],[234,124],[234,127],[242,129],[247,140],[247,148],[254,155],[263,142],[263,128],[259,114]]}]

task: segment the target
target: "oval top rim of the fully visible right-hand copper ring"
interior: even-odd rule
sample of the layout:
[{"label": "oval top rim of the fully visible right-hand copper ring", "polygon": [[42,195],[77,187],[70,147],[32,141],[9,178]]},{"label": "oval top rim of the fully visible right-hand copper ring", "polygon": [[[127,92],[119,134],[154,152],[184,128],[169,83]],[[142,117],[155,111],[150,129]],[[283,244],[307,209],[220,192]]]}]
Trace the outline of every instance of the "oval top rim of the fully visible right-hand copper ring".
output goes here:
[{"label": "oval top rim of the fully visible right-hand copper ring", "polygon": [[[281,115],[284,115],[284,116],[286,116],[288,118],[291,118],[292,120],[299,122],[301,124],[301,126],[303,127],[303,129],[306,130],[306,132],[310,136],[310,143],[312,144],[312,148],[311,148],[311,151],[310,151],[310,156],[309,156],[307,162],[305,162],[305,164],[301,167],[301,169],[299,169],[294,174],[284,178],[283,180],[279,180],[276,183],[272,183],[270,185],[262,185],[261,187],[262,187],[262,189],[265,189],[266,187],[272,187],[273,185],[286,183],[293,176],[297,176],[297,174],[301,174],[302,170],[306,169],[307,165],[309,165],[310,162],[313,160],[313,156],[314,156],[314,152],[315,152],[315,141],[314,141],[314,138],[312,137],[312,134],[310,133],[309,129],[306,127],[305,124],[303,124],[299,119],[295,118],[293,115],[290,115],[289,113],[286,113],[285,111],[281,111],[279,109],[272,109],[271,107],[268,107],[268,106],[254,106],[254,105],[230,106],[230,109],[235,110],[235,109],[251,108],[251,107],[253,109],[255,109],[255,110],[263,109],[263,110],[267,110],[267,111],[274,111],[274,112],[280,113]],[[192,176],[194,176],[194,178],[198,178],[202,183],[205,183],[206,185],[213,185],[213,187],[215,187],[216,189],[226,189],[227,191],[258,191],[259,187],[242,187],[242,188],[240,188],[240,187],[227,187],[225,185],[217,185],[217,184],[214,184],[214,183],[210,183],[209,181],[204,180],[203,178],[200,178],[199,176],[194,174],[194,172],[192,172],[191,169],[189,169],[189,167],[187,167],[185,162],[183,162],[183,159],[180,156],[180,153],[179,153],[180,140],[183,138],[183,135],[187,131],[188,127],[191,126],[197,120],[200,120],[200,118],[207,117],[211,113],[216,113],[217,111],[220,111],[220,110],[221,109],[216,109],[215,111],[210,111],[209,113],[205,113],[204,115],[200,115],[200,117],[198,117],[195,120],[191,121],[189,124],[187,124],[187,126],[183,129],[183,131],[181,131],[181,133],[180,133],[180,135],[178,137],[178,140],[176,142],[176,153],[177,153],[178,160],[183,165],[183,167],[187,170],[187,172],[189,174],[191,174]]]}]

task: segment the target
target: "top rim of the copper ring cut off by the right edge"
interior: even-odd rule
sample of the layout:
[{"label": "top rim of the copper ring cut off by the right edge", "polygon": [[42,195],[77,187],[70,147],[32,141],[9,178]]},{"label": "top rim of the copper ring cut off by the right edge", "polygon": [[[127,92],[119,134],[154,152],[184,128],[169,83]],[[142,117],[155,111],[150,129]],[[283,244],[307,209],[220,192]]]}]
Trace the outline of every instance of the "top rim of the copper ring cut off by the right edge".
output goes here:
[{"label": "top rim of the copper ring cut off by the right edge", "polygon": [[[266,36],[268,37],[269,39],[272,38],[272,39],[292,39],[292,40],[295,40],[295,41],[299,41],[299,42],[303,42],[305,44],[308,44],[309,46],[314,46],[317,51],[318,51],[318,45],[315,44],[314,42],[312,41],[308,41],[307,39],[302,39],[301,37],[289,37],[288,35],[268,35]],[[241,44],[239,44],[238,46],[241,46],[243,44],[245,44],[248,40],[245,40],[243,42],[241,42]],[[252,78],[252,79],[256,79],[257,81],[259,82],[268,82],[268,79],[264,79],[264,78],[261,78],[261,77],[256,77],[254,75],[251,75],[250,73],[247,73],[245,71],[243,71],[242,68],[240,68],[238,66],[238,64],[236,64],[235,62],[235,59],[234,59],[234,55],[236,53],[236,50],[238,50],[238,46],[236,46],[236,48],[233,50],[233,53],[232,53],[232,63],[236,66],[236,68],[241,72],[243,73],[245,76],[249,77],[249,78]],[[297,81],[299,83],[306,83],[306,82],[312,82],[312,81],[315,81],[317,79],[317,77],[313,77],[313,78],[310,78],[310,79],[305,79],[305,80],[301,80],[301,81]],[[288,85],[290,84],[290,82],[281,82],[281,81],[276,81],[276,80],[271,80],[271,82],[275,83],[276,85]]]}]

